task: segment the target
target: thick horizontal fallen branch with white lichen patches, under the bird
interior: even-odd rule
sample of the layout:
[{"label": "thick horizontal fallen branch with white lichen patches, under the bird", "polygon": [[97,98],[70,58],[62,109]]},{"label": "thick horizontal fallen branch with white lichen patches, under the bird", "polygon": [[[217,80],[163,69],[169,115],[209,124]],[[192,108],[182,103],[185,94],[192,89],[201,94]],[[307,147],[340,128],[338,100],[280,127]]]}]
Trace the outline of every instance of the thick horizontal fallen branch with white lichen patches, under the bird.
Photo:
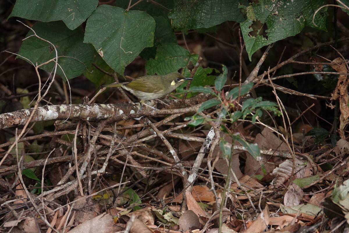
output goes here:
[{"label": "thick horizontal fallen branch with white lichen patches, under the bird", "polygon": [[[201,102],[209,99],[208,95],[199,94],[193,98],[187,99],[186,104],[195,105],[184,109],[168,109],[155,111],[141,111],[137,114],[138,108],[135,104],[117,103],[117,104],[59,104],[47,105],[38,107],[37,109],[29,108],[19,111],[0,114],[0,129],[8,128],[17,125],[24,125],[32,114],[30,122],[52,121],[52,120],[67,120],[67,119],[82,119],[82,120],[101,120],[113,118],[115,121],[127,120],[144,116],[156,116],[163,114],[174,114],[178,111],[182,113],[196,112],[200,107]],[[200,100],[200,101],[198,101]],[[170,108],[180,104],[177,100],[163,100],[168,103]],[[199,104],[199,105],[198,105]],[[33,114],[34,111],[34,114]]]}]

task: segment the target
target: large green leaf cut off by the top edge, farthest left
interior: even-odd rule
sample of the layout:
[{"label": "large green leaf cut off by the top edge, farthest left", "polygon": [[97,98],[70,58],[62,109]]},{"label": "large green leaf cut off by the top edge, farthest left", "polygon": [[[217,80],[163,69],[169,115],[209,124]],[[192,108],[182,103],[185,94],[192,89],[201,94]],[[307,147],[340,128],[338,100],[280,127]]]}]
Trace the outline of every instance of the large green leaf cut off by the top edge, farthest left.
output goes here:
[{"label": "large green leaf cut off by the top edge, farthest left", "polygon": [[97,0],[17,0],[8,18],[17,16],[43,22],[63,20],[70,30],[74,30],[86,21],[97,3]]}]

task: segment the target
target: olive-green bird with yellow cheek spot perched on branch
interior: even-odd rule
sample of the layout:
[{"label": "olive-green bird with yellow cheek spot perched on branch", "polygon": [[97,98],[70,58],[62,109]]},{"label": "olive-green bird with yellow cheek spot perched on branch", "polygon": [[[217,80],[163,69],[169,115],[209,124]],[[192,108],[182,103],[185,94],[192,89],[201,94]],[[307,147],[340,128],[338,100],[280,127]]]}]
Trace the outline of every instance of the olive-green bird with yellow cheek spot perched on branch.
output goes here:
[{"label": "olive-green bird with yellow cheek spot perched on branch", "polygon": [[193,79],[186,78],[178,72],[173,72],[166,75],[146,75],[129,82],[114,82],[103,85],[101,88],[122,87],[128,92],[131,92],[140,102],[138,113],[143,108],[142,103],[147,100],[159,99],[170,94],[186,80]]}]

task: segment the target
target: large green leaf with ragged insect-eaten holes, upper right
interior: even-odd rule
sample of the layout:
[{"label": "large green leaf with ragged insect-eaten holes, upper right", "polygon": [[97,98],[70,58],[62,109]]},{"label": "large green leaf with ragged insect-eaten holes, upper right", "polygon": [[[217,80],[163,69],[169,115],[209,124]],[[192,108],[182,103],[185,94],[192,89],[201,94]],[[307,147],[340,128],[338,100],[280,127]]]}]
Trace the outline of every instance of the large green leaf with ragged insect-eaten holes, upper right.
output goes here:
[{"label": "large green leaf with ragged insect-eaten holes, upper right", "polygon": [[[320,30],[326,30],[327,7],[322,8],[312,22],[315,11],[325,4],[325,0],[285,0],[285,1],[264,1],[261,6],[252,4],[253,12],[259,24],[252,24],[251,19],[240,23],[241,32],[246,44],[248,58],[265,45],[280,41],[286,37],[295,36],[304,27],[309,26]],[[268,9],[268,10],[265,10]],[[263,36],[263,25],[267,26],[267,34]]]}]

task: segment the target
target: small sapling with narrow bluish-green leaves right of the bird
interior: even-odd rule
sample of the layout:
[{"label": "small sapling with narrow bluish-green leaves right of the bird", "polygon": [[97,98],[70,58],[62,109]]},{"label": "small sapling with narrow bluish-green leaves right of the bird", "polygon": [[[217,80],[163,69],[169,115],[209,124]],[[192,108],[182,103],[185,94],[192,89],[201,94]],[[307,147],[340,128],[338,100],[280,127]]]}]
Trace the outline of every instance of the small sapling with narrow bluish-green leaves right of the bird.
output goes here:
[{"label": "small sapling with narrow bluish-green leaves right of the bird", "polygon": [[[223,66],[222,70],[222,73],[218,75],[218,77],[216,77],[214,88],[202,86],[194,86],[190,88],[190,91],[192,92],[211,94],[212,96],[214,96],[214,98],[203,102],[198,109],[197,114],[187,118],[187,120],[190,121],[188,123],[189,126],[195,127],[205,121],[211,120],[199,115],[199,113],[214,106],[220,106],[220,111],[217,112],[218,117],[224,119],[224,121],[229,123],[234,123],[239,119],[246,119],[247,117],[251,117],[251,122],[255,124],[257,119],[262,116],[263,110],[273,112],[275,115],[281,114],[275,103],[271,101],[262,101],[261,97],[258,97],[256,99],[247,99],[241,106],[239,106],[237,102],[238,97],[246,95],[248,92],[250,92],[251,88],[253,87],[253,83],[247,83],[240,87],[235,87],[229,92],[225,92],[224,85],[225,82],[227,82],[228,69],[227,67]],[[228,133],[229,136],[232,137],[233,141],[237,141],[240,145],[244,146],[248,153],[250,153],[255,160],[261,161],[260,151],[257,145],[248,143],[240,136],[239,133],[231,133],[223,126],[221,130]],[[232,145],[221,138],[219,146],[223,152],[223,157],[227,156],[229,158],[232,152]],[[263,164],[261,164],[261,167],[265,172]]]}]

